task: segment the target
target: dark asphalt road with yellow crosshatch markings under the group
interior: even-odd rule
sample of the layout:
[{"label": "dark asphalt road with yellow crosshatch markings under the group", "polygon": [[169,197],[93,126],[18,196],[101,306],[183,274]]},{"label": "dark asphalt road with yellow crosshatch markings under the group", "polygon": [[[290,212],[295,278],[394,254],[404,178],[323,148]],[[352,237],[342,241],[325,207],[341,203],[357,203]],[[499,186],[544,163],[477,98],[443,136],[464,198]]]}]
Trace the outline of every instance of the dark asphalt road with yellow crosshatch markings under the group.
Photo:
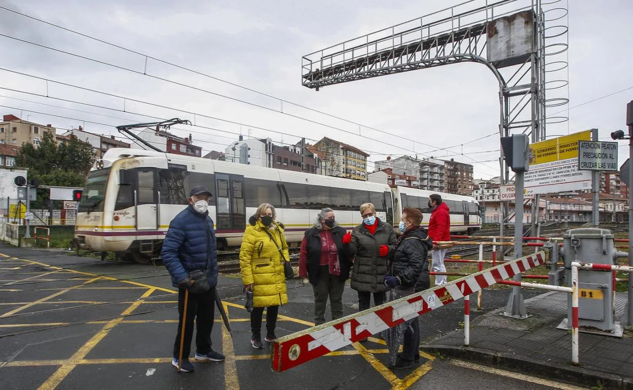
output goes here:
[{"label": "dark asphalt road with yellow crosshatch markings under the group", "polygon": [[[299,281],[288,286],[290,303],[280,308],[277,336],[306,329],[313,320],[311,287]],[[227,361],[196,363],[196,372],[177,374],[170,365],[177,303],[164,267],[0,245],[0,388],[573,388],[424,354],[418,367],[394,374],[385,367],[379,339],[277,374],[270,370],[270,347],[251,347],[241,279],[220,277],[218,291],[232,334],[216,314],[212,341]],[[483,310],[473,310],[472,317],[505,305],[507,295],[485,291]],[[344,303],[345,314],[356,312],[356,292],[346,289]],[[460,302],[434,310],[420,317],[422,339],[452,331],[462,320]]]}]

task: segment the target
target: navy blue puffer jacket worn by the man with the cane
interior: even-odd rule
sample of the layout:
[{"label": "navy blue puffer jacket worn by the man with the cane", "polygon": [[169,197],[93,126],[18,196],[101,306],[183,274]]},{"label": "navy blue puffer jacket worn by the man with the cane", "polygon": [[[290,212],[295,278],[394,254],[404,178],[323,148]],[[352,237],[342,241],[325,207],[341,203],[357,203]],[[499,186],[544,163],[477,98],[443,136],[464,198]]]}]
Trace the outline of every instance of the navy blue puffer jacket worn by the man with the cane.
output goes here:
[{"label": "navy blue puffer jacket worn by the man with the cane", "polygon": [[206,269],[211,288],[218,283],[218,248],[209,213],[198,214],[189,205],[169,224],[163,250],[163,264],[178,287],[189,272]]}]

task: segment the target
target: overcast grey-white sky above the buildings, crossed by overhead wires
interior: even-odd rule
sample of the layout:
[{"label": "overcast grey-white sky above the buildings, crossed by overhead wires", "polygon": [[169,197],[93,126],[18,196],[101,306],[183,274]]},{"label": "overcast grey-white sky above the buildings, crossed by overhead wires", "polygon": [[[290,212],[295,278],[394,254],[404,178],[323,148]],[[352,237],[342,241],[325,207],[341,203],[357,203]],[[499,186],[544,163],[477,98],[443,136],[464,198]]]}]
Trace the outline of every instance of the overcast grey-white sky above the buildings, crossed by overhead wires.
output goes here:
[{"label": "overcast grey-white sky above the buildings, crossed by overhead wires", "polygon": [[[525,0],[518,1],[522,2]],[[51,123],[60,129],[59,133],[64,131],[61,130],[63,128],[84,126],[85,121],[87,131],[117,136],[113,126],[155,120],[147,116],[176,116],[207,127],[177,126],[172,130],[181,136],[191,133],[194,143],[201,145],[205,152],[223,150],[239,133],[245,137],[270,137],[277,143],[296,143],[302,135],[308,138],[308,142],[327,136],[371,152],[371,161],[384,159],[387,155],[395,157],[402,154],[454,158],[456,161],[472,163],[475,177],[489,178],[499,172],[498,163],[490,162],[499,156],[496,151],[499,149],[498,137],[466,143],[498,131],[498,83],[491,71],[481,64],[450,64],[324,87],[319,92],[301,85],[301,56],[456,3],[458,1],[439,0],[111,0],[99,3],[77,0],[0,0],[0,5],[6,8],[265,92],[273,97],[349,119],[386,134],[291,104],[282,104],[277,99],[151,59],[147,61],[146,73],[149,75],[210,90],[266,109],[6,37],[0,37],[3,47],[0,68],[216,119],[139,102],[123,102],[117,97],[59,84],[47,85],[42,80],[1,70],[0,87],[116,110],[125,108],[127,112],[81,106],[2,89],[0,105],[5,107],[0,107],[0,111],[4,114],[22,115],[23,119],[28,116],[28,120],[37,123]],[[473,3],[472,8],[480,3],[482,1]],[[567,2],[563,0],[559,4],[565,3]],[[569,25],[570,48],[568,53],[556,58],[568,59],[569,62],[568,92],[571,107],[568,113],[563,111],[556,116],[568,115],[570,121],[551,126],[548,134],[567,134],[599,128],[601,137],[608,137],[613,130],[625,130],[625,106],[633,100],[633,89],[605,97],[633,87],[633,73],[630,71],[630,64],[633,63],[633,54],[630,51],[633,29],[630,15],[633,3],[629,0],[605,0],[599,2],[600,5],[598,2],[579,0],[571,3],[568,17],[559,20]],[[550,15],[561,14],[554,11]],[[556,24],[556,21],[550,23]],[[146,66],[146,59],[137,54],[79,37],[3,9],[0,9],[0,34],[52,46],[141,73]],[[558,79],[561,75],[567,77],[567,70],[551,77]],[[549,97],[558,97],[561,93],[567,95],[567,88],[560,88]],[[605,98],[599,99],[602,97]],[[594,99],[599,100],[576,107]],[[553,107],[548,109],[548,114],[567,108],[568,106]],[[24,111],[20,113],[18,109]],[[286,114],[279,113],[281,110]],[[73,119],[56,118],[44,113]],[[243,123],[244,126],[227,121]],[[415,140],[415,143],[411,140]],[[461,143],[465,145],[461,146]],[[448,147],[453,148],[434,150]],[[627,148],[620,147],[620,163],[627,156]]]}]

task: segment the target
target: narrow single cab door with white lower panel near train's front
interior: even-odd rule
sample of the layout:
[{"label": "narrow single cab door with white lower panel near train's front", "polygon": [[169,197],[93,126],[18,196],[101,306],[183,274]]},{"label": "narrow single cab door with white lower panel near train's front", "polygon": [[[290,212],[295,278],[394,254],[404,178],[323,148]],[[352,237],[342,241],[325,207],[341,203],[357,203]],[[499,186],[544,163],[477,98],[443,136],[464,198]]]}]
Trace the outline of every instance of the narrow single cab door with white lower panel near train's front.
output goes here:
[{"label": "narrow single cab door with white lower panel near train's front", "polygon": [[160,228],[160,195],[156,168],[139,168],[136,171],[135,192],[136,228],[138,230],[157,230]]}]

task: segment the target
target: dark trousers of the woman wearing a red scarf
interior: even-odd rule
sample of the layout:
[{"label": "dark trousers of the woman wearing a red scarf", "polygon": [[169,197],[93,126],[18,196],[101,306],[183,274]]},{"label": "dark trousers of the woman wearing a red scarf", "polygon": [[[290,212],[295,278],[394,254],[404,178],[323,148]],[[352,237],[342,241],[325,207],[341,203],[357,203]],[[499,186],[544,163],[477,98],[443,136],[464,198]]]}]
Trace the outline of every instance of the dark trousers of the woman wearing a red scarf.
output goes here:
[{"label": "dark trousers of the woman wearing a red scarf", "polygon": [[315,325],[325,322],[325,307],[327,298],[330,298],[330,310],[332,320],[343,316],[343,289],[345,281],[340,276],[330,275],[328,265],[321,265],[319,269],[318,281],[312,286],[315,293]]}]

